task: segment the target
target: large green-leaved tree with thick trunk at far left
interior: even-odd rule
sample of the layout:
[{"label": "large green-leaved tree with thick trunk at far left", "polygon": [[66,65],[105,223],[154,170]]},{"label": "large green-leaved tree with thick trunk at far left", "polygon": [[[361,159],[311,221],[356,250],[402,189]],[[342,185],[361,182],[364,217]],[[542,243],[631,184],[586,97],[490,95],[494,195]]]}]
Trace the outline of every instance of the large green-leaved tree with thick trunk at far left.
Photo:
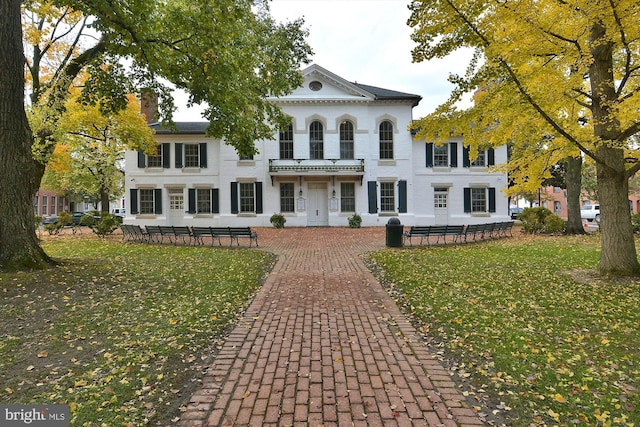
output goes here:
[{"label": "large green-leaved tree with thick trunk at far left", "polygon": [[[161,98],[160,119],[170,120],[171,90],[183,89],[190,103],[206,105],[209,135],[248,154],[255,151],[255,140],[286,122],[266,98],[299,86],[300,64],[311,53],[302,21],[276,23],[266,0],[30,0],[23,5],[24,39],[21,2],[2,2],[0,55],[9,58],[2,64],[2,85],[17,95],[0,96],[6,95],[2,102],[22,100],[24,86],[16,82],[26,71],[30,104],[41,108],[45,120],[31,132],[18,117],[24,116],[23,103],[7,104],[2,112],[11,121],[7,131],[3,128],[6,147],[0,151],[6,166],[0,190],[11,189],[0,191],[2,266],[46,261],[33,226],[23,223],[33,223],[35,189],[54,152],[53,135],[69,88],[81,73],[91,75],[83,99],[100,101],[105,111],[125,108],[128,93],[150,88]],[[16,63],[19,75],[14,75]],[[113,65],[105,70],[103,64]],[[32,176],[24,179],[25,173]],[[16,193],[22,195],[20,209],[11,197]],[[21,244],[12,244],[15,239]]]}]

